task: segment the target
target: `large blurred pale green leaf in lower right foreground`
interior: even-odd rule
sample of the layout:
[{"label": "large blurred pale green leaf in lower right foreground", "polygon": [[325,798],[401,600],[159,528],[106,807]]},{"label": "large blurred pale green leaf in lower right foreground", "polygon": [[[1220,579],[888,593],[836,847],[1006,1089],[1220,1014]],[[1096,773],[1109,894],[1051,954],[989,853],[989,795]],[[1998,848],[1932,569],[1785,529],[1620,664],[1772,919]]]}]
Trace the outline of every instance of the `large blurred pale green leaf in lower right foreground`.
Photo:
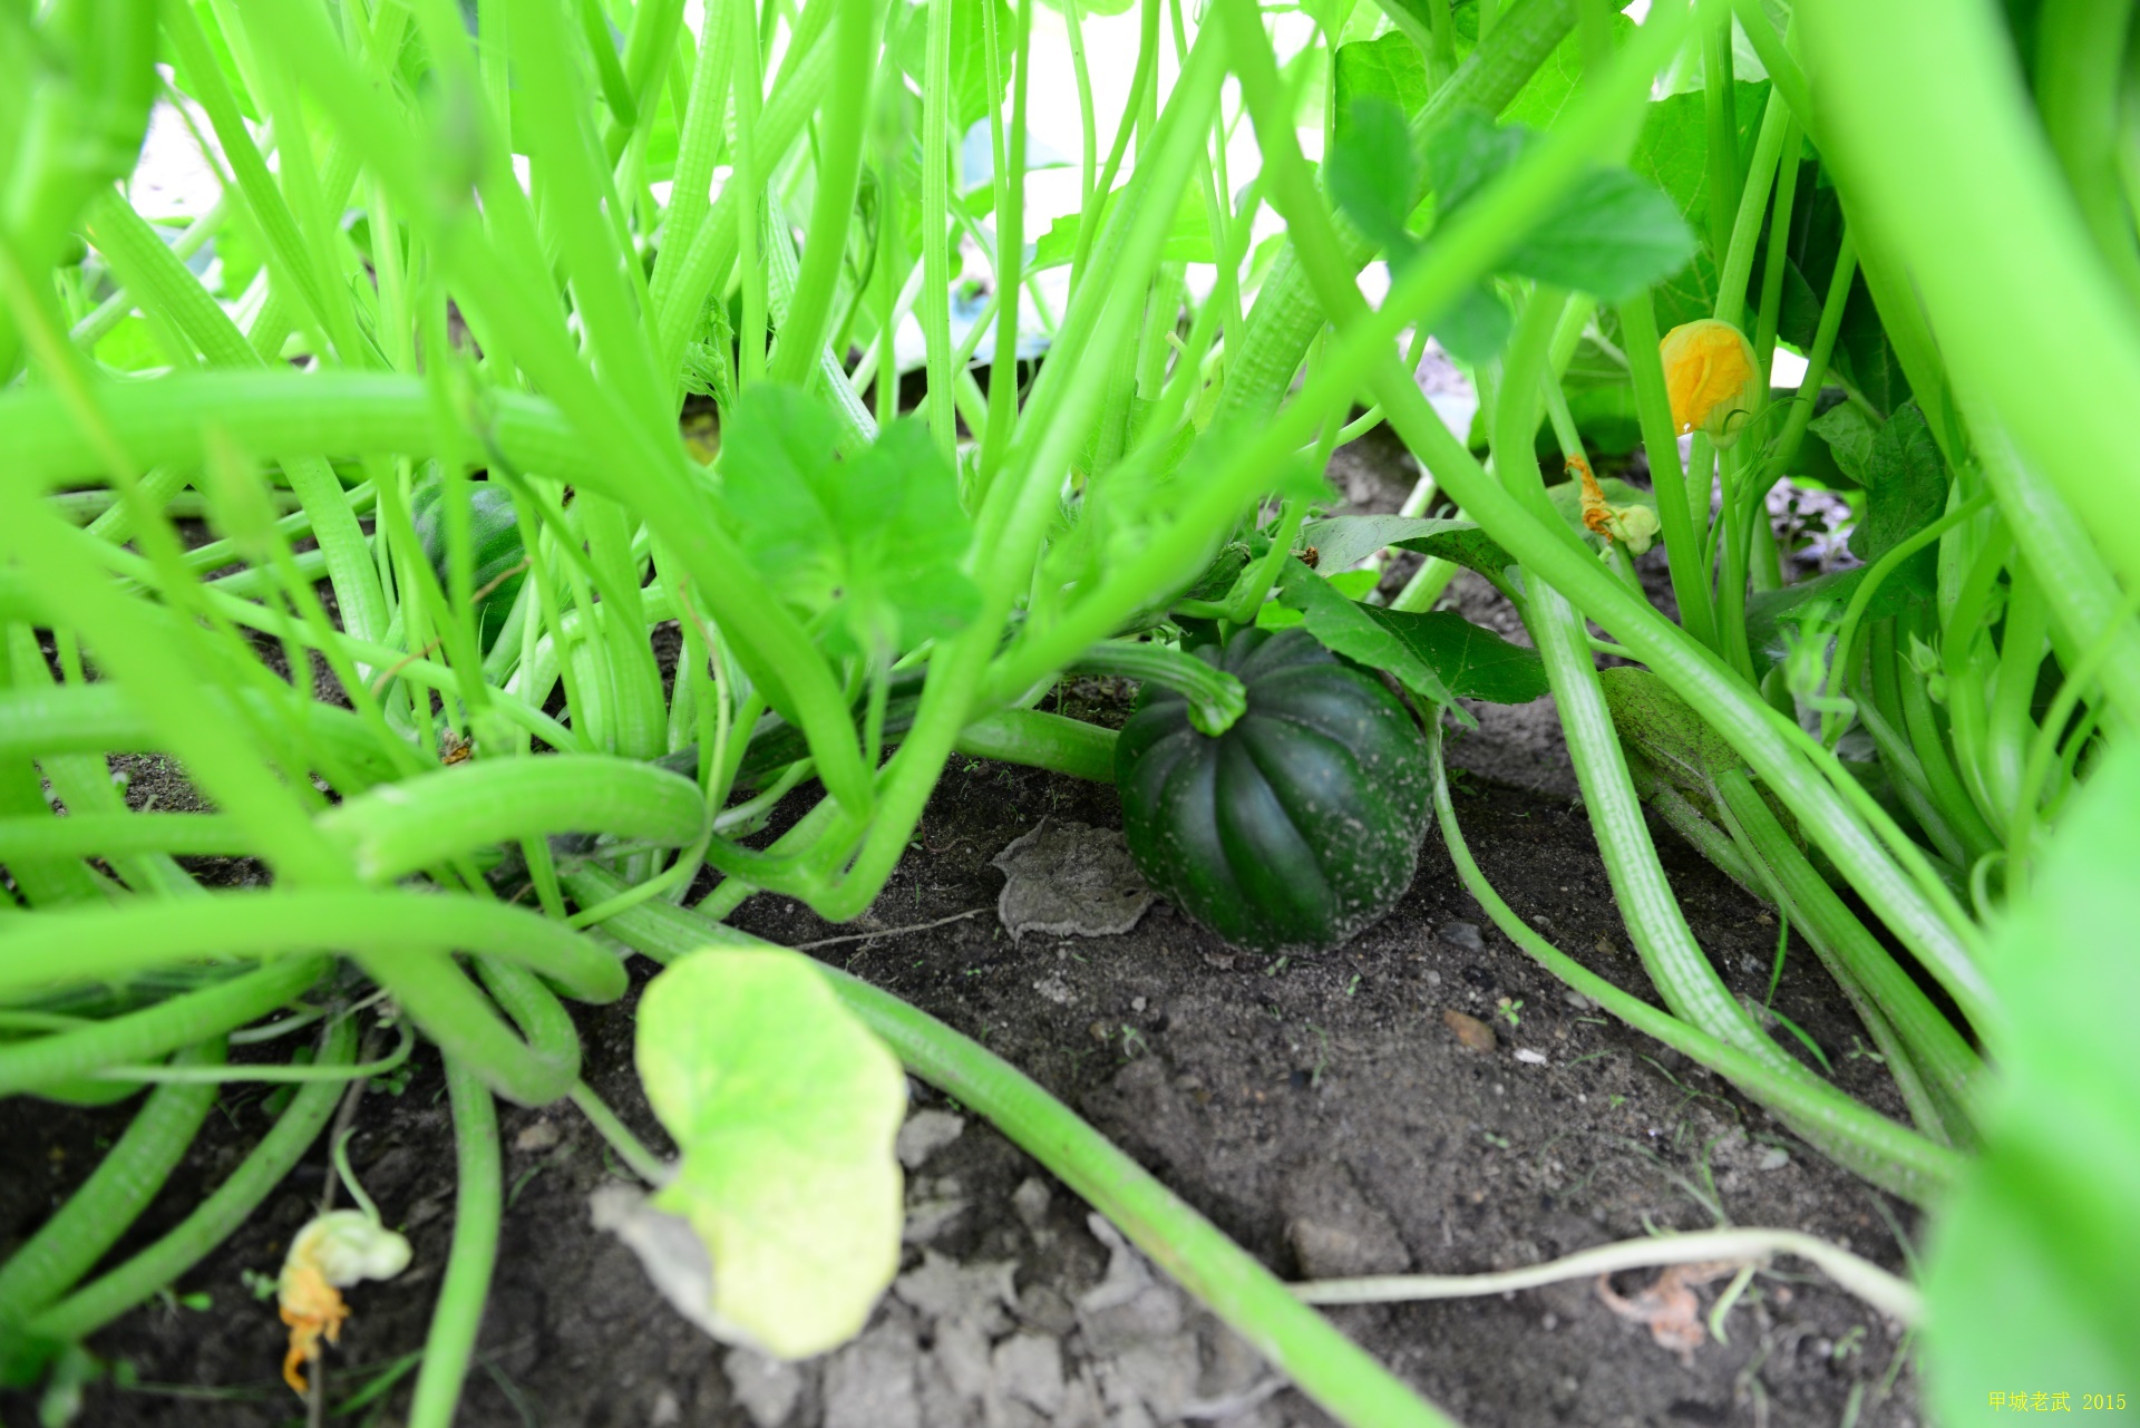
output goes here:
[{"label": "large blurred pale green leaf in lower right foreground", "polygon": [[2001,1085],[1926,1270],[1928,1407],[1945,1424],[2003,1422],[1992,1392],[2069,1392],[2069,1411],[2108,1392],[2140,1409],[2136,809],[2127,741],[2072,803],[1984,963],[2007,1015]]}]

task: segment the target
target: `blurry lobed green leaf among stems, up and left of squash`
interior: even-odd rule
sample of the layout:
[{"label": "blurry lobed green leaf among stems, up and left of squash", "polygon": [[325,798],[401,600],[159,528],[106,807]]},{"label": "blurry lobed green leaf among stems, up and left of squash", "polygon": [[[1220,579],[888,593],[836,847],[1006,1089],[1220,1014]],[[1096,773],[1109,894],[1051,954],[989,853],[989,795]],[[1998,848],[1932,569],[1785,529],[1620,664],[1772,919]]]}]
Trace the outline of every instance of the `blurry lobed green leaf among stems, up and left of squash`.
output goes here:
[{"label": "blurry lobed green leaf among stems, up and left of squash", "polygon": [[721,443],[721,499],[760,574],[817,617],[832,644],[875,655],[959,629],[978,606],[959,569],[972,522],[959,480],[914,417],[854,460],[815,396],[760,383]]}]

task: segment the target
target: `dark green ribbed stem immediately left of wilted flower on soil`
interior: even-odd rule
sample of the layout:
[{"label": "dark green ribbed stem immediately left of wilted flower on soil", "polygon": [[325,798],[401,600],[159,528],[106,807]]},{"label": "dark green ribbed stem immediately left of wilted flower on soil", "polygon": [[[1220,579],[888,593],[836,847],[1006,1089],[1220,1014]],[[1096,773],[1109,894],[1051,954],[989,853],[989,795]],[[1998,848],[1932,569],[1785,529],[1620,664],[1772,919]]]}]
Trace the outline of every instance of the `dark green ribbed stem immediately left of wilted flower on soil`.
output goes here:
[{"label": "dark green ribbed stem immediately left of wilted flower on soil", "polygon": [[[336,1021],[327,1030],[315,1064],[347,1064],[355,1058],[355,1021]],[[338,1081],[302,1085],[268,1135],[259,1139],[246,1158],[238,1163],[238,1169],[208,1199],[195,1205],[193,1214],[133,1259],[107,1270],[90,1285],[83,1285],[30,1319],[24,1325],[26,1332],[51,1342],[88,1338],[197,1265],[282,1184],[282,1178],[289,1175],[312,1141],[319,1139],[340,1098],[342,1085]]]}]

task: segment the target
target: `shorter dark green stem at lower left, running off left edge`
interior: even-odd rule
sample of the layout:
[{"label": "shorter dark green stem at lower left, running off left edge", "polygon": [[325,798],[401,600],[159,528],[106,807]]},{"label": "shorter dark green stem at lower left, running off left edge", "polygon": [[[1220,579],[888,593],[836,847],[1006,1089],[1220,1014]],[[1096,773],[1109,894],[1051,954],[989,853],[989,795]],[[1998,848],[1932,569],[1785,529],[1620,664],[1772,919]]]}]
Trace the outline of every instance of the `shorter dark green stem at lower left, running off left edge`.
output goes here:
[{"label": "shorter dark green stem at lower left, running off left edge", "polygon": [[[218,1066],[223,1053],[223,1038],[212,1036],[171,1064]],[[90,1178],[0,1263],[0,1338],[66,1293],[141,1218],[186,1156],[216,1096],[212,1081],[158,1085],[150,1092]]]}]

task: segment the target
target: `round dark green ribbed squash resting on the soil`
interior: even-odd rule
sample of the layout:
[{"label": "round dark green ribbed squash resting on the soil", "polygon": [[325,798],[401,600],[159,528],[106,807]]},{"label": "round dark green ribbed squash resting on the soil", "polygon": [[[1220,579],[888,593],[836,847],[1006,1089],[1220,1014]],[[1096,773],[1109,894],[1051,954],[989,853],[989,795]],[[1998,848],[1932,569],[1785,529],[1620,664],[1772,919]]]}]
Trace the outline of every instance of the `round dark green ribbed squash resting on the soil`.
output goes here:
[{"label": "round dark green ribbed squash resting on the soil", "polygon": [[1432,794],[1427,741],[1389,689],[1305,629],[1243,629],[1198,657],[1248,713],[1220,736],[1147,685],[1115,745],[1130,856],[1235,946],[1327,951],[1412,884]]}]

